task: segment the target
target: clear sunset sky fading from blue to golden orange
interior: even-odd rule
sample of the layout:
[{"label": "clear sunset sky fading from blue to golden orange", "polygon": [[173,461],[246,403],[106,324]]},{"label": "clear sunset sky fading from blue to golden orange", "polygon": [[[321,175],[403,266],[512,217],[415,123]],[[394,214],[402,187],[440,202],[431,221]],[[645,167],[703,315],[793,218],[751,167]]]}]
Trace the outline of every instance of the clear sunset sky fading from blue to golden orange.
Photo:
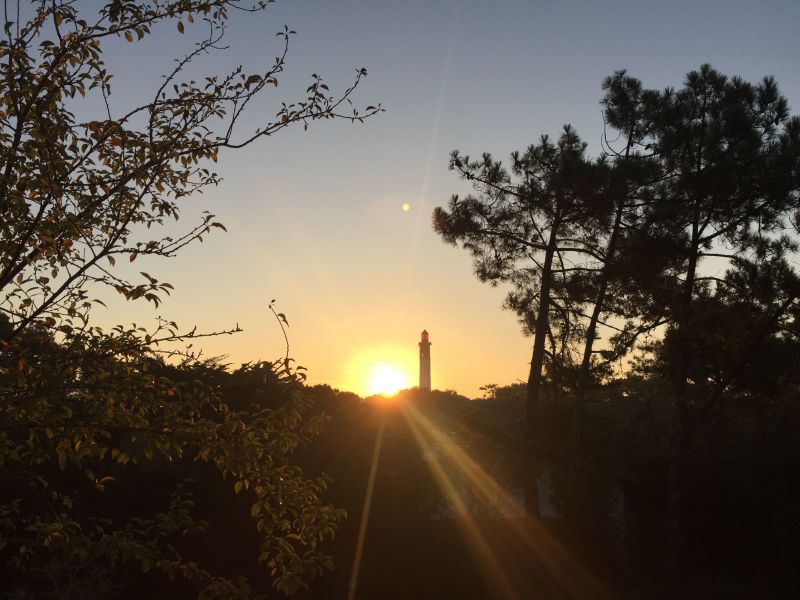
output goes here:
[{"label": "clear sunset sky fading from blue to golden orange", "polygon": [[[206,331],[238,324],[243,332],[196,345],[236,366],[284,355],[267,308],[275,299],[309,382],[359,394],[380,365],[416,385],[422,329],[434,388],[477,397],[480,386],[527,379],[531,340],[502,310],[506,291],[480,283],[468,252],[431,227],[434,207],[468,191],[447,169],[451,150],[506,158],[571,123],[596,155],[600,84],[618,69],[653,88],[679,87],[706,62],[750,81],[774,75],[800,112],[795,0],[279,0],[264,14],[233,14],[229,48],[196,74],[272,63],[284,25],[297,31],[286,71],[242,133],[304,97],[312,73],[336,92],[367,68],[356,104],[386,111],[222,153],[223,183],[190,199],[179,225],[209,210],[228,233],[136,263],[176,288],[158,309],[115,300],[97,318],[149,326],[161,315]],[[115,109],[155,89],[168,60],[199,35],[199,24],[184,35],[160,28],[146,44],[108,48]]]}]

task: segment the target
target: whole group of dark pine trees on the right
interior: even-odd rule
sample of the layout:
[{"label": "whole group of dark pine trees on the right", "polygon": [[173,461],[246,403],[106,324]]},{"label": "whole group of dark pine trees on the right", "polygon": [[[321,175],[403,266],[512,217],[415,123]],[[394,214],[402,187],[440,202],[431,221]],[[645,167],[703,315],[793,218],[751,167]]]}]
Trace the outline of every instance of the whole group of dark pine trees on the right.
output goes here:
[{"label": "whole group of dark pine trees on the right", "polygon": [[[611,376],[609,359],[655,352],[651,376],[660,373],[674,402],[666,532],[675,572],[696,437],[759,349],[794,335],[800,120],[771,78],[750,84],[708,65],[677,91],[644,89],[624,71],[603,89],[599,159],[570,128],[555,145],[512,155],[510,170],[455,152],[451,168],[476,193],[436,209],[434,228],[472,253],[482,281],[510,284],[506,307],[534,336],[529,471],[553,450],[535,448],[543,382],[572,394],[579,449],[581,406]],[[615,333],[598,349],[599,326]],[[643,333],[661,341],[638,346]],[[529,502],[535,494],[529,484]]]}]

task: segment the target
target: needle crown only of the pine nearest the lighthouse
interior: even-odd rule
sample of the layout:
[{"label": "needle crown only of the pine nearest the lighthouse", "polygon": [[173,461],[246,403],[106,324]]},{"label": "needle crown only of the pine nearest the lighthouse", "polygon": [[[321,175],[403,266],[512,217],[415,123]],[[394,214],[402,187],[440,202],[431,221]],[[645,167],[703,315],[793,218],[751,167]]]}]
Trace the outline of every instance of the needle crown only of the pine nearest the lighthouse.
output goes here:
[{"label": "needle crown only of the pine nearest the lighthouse", "polygon": [[569,264],[591,255],[591,217],[600,218],[605,208],[585,147],[566,127],[556,143],[544,136],[513,154],[510,170],[488,154],[474,161],[454,151],[450,158],[451,170],[473,182],[477,195],[454,196],[449,210],[436,209],[434,228],[470,251],[481,281],[511,284],[505,306],[527,333],[537,330],[539,304],[549,303],[553,335],[570,337],[571,321],[564,318],[574,281]]}]

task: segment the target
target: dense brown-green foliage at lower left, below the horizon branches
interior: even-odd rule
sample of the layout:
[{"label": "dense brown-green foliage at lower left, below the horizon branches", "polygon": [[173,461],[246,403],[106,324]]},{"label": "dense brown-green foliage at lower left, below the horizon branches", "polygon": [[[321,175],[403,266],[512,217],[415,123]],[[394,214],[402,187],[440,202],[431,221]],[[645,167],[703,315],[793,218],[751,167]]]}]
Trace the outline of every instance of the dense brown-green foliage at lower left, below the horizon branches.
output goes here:
[{"label": "dense brown-green foliage at lower left, below the horizon branches", "polygon": [[[229,489],[252,497],[250,515],[263,540],[259,560],[279,589],[296,590],[301,574],[328,567],[317,546],[343,514],[320,500],[326,478],[306,479],[288,461],[323,425],[307,418],[297,375],[264,363],[233,375],[212,367],[176,370],[135,340],[123,353],[126,335],[134,334],[95,332],[56,344],[39,332],[23,350],[3,354],[4,550],[13,570],[28,574],[26,585],[60,562],[67,571],[105,567],[111,581],[114,569],[133,563],[201,588],[220,583],[174,548],[206,527],[189,510],[191,486],[151,517],[105,505],[109,488],[140,480],[141,465],[152,461],[172,472],[178,489],[186,477],[182,464],[207,462]],[[226,378],[271,395],[274,406],[233,408],[214,385]],[[83,584],[73,577],[54,579],[60,586]]]}]

